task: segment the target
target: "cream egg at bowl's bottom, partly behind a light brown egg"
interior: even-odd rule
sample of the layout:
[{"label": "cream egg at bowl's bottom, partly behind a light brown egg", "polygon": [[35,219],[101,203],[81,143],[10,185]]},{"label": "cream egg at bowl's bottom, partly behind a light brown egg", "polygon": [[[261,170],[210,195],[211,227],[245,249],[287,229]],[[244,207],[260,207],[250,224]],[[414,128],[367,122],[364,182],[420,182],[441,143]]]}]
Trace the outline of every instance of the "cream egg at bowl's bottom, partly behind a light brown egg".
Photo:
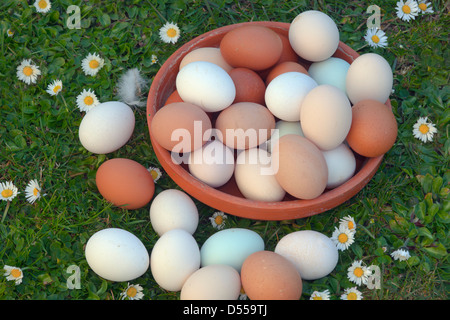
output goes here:
[{"label": "cream egg at bowl's bottom, partly behind a light brown egg", "polygon": [[234,177],[245,198],[255,201],[281,201],[286,192],[275,178],[276,168],[264,149],[244,150],[236,158]]}]

